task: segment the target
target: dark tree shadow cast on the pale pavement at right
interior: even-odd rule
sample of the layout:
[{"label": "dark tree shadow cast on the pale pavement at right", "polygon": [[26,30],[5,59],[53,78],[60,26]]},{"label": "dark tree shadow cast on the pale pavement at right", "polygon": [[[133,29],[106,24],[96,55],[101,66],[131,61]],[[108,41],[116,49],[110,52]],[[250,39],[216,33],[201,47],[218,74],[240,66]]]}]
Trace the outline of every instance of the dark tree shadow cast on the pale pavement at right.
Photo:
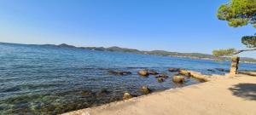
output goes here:
[{"label": "dark tree shadow cast on the pale pavement at right", "polygon": [[256,83],[238,83],[230,88],[233,95],[246,100],[256,101]]}]

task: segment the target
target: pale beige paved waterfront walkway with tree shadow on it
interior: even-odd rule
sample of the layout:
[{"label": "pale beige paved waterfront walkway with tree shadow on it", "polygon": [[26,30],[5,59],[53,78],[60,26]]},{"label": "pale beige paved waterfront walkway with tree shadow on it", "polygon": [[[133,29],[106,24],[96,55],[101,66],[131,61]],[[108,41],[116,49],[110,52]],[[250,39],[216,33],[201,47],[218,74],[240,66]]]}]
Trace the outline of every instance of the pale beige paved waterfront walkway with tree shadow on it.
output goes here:
[{"label": "pale beige paved waterfront walkway with tree shadow on it", "polygon": [[256,115],[255,106],[256,77],[238,74],[63,115]]}]

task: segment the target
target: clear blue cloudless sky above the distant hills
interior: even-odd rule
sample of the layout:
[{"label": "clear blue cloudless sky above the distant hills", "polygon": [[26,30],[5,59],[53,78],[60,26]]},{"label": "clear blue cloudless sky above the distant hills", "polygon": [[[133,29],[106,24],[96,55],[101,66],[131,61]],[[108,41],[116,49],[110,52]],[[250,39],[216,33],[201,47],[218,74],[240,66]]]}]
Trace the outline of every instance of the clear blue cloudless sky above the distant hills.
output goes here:
[{"label": "clear blue cloudless sky above the distant hills", "polygon": [[[233,28],[216,12],[227,0],[0,0],[0,42],[119,46],[212,54],[245,49],[252,26]],[[255,52],[241,56],[256,58]]]}]

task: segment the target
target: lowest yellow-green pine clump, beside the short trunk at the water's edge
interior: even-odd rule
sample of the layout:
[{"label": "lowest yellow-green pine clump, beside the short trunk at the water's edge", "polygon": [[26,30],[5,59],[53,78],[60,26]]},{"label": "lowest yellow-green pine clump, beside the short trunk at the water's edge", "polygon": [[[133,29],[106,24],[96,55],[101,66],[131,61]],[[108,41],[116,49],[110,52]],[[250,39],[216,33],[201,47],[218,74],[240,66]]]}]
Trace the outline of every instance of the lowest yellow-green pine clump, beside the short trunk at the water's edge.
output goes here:
[{"label": "lowest yellow-green pine clump, beside the short trunk at the water's edge", "polygon": [[216,57],[222,57],[222,56],[232,56],[236,55],[236,49],[218,49],[213,50],[212,55]]}]

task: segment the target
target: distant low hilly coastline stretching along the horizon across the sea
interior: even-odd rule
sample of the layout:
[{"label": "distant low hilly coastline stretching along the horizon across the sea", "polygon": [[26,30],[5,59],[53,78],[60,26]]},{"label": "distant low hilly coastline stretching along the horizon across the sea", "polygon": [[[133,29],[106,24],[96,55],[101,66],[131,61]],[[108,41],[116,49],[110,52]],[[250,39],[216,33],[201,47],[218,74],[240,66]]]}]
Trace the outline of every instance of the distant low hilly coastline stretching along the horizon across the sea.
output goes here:
[{"label": "distant low hilly coastline stretching along the horizon across the sea", "polygon": [[[1,44],[1,42],[0,42]],[[22,44],[22,43],[2,43],[2,44]],[[132,53],[138,55],[160,55],[160,56],[171,56],[177,58],[189,58],[195,60],[216,60],[216,56],[207,55],[202,53],[178,53],[178,52],[169,52],[165,50],[152,50],[152,51],[143,51],[138,49],[127,49],[127,48],[119,48],[117,46],[113,47],[76,47],[73,45],[69,45],[66,43],[61,43],[59,45],[55,44],[24,44],[24,45],[38,45],[38,46],[49,46],[49,47],[58,47],[58,48],[72,48],[72,49],[88,49],[88,50],[96,50],[96,51],[110,51],[110,52],[123,52],[123,53]],[[224,61],[230,61],[230,58],[222,57]],[[241,57],[240,62],[242,63],[251,63],[256,64],[256,59]]]}]

